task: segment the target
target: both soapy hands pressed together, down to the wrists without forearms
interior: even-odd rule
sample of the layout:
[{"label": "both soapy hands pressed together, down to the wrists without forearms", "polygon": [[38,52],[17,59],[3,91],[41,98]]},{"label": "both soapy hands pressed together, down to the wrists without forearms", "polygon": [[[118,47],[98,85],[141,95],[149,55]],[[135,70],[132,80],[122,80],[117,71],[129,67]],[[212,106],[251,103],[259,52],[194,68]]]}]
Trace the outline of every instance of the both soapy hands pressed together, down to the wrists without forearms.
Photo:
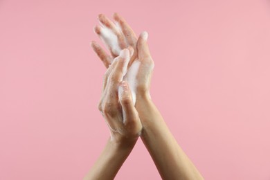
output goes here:
[{"label": "both soapy hands pressed together, down to the wrists without forearms", "polygon": [[117,13],[113,17],[114,22],[98,15],[100,25],[94,28],[111,55],[96,42],[91,43],[107,68],[98,109],[107,121],[111,141],[128,144],[136,142],[141,134],[143,126],[135,103],[150,98],[154,62],[147,46],[147,33],[137,38],[123,17]]}]

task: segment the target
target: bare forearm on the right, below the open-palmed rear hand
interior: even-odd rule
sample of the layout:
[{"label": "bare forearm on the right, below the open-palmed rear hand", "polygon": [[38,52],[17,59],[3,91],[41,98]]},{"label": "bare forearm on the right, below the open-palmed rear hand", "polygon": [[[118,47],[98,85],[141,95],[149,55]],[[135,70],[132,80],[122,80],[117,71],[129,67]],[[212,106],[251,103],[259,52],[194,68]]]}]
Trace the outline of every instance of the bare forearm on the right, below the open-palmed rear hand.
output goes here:
[{"label": "bare forearm on the right, below the open-palmed rear hand", "polygon": [[203,179],[179,147],[152,100],[138,100],[136,109],[143,124],[141,138],[161,177],[170,180]]}]

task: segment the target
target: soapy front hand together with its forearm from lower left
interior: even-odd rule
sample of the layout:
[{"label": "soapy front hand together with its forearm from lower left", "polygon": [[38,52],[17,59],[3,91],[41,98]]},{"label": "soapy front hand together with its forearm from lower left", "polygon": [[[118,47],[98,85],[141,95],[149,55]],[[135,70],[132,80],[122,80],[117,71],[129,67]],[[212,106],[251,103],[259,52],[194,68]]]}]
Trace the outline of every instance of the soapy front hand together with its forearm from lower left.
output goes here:
[{"label": "soapy front hand together with its forearm from lower left", "polygon": [[129,53],[127,49],[120,51],[105,73],[98,109],[109,126],[111,137],[84,180],[114,179],[141,134],[141,120],[133,105],[129,84],[123,81]]}]

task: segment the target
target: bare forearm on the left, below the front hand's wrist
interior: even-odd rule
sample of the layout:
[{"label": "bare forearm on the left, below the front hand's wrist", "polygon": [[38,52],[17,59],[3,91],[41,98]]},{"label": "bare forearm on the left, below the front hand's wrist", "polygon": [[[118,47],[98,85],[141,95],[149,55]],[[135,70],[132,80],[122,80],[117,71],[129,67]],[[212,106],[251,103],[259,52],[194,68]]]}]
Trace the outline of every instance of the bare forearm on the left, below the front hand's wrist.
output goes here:
[{"label": "bare forearm on the left, below the front hand's wrist", "polygon": [[114,179],[118,170],[125,162],[125,159],[127,159],[127,156],[132,152],[135,143],[136,141],[128,144],[115,143],[109,138],[105,149],[102,151],[102,154],[100,154],[91,170],[84,177],[84,180]]}]

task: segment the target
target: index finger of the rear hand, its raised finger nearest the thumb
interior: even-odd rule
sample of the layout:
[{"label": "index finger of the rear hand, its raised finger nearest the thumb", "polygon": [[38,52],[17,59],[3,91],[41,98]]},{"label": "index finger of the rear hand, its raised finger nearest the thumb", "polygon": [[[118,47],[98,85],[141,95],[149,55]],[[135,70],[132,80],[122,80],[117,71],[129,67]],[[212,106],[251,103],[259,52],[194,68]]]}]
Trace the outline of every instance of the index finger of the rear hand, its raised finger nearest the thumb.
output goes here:
[{"label": "index finger of the rear hand, its raised finger nearest the thumb", "polygon": [[133,48],[136,48],[137,37],[132,28],[129,26],[129,24],[127,24],[127,21],[125,21],[123,17],[118,15],[118,13],[114,13],[113,17],[114,21],[116,21],[116,25],[120,26],[120,29],[125,35],[127,43]]}]

